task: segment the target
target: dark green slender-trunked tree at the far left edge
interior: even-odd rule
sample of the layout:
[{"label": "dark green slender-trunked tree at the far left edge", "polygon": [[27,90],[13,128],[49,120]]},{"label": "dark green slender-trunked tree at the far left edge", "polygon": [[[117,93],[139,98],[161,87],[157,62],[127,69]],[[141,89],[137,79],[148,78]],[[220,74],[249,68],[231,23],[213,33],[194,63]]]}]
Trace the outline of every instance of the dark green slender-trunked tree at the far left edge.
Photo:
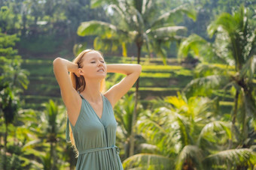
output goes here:
[{"label": "dark green slender-trunked tree at the far left edge", "polygon": [[[0,57],[0,61],[4,64],[0,66],[0,115],[3,115],[5,119],[5,154],[7,152],[8,142],[8,125],[13,124],[14,118],[20,108],[19,94],[28,87],[29,81],[27,79],[28,72],[20,68],[22,60],[20,56],[17,56],[17,52],[12,50],[11,46],[14,46],[14,42],[17,40],[16,35],[3,35],[4,38],[10,38],[10,42],[0,44],[2,46],[9,46],[10,50],[2,49],[1,55],[6,57]],[[6,156],[3,169],[6,169]]]}]

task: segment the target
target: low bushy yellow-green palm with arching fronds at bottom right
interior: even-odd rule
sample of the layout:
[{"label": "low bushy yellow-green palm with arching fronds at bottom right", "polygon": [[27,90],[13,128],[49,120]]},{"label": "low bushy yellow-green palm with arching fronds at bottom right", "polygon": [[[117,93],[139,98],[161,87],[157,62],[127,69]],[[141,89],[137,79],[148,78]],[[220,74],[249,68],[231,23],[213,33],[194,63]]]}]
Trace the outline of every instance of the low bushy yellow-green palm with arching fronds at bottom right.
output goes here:
[{"label": "low bushy yellow-green palm with arching fronds at bottom right", "polygon": [[216,107],[218,100],[207,97],[167,97],[163,107],[142,115],[138,123],[142,136],[159,151],[129,157],[123,168],[235,169],[255,165],[249,149],[224,150],[231,126],[215,119]]}]

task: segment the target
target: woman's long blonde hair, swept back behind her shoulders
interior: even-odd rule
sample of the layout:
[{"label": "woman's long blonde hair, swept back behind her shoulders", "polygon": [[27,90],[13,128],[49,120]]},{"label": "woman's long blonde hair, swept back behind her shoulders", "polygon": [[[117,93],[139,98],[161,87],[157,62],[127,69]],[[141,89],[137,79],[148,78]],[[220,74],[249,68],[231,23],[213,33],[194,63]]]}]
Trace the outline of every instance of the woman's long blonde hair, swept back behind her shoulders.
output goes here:
[{"label": "woman's long blonde hair, swept back behind her shoulders", "polygon": [[[84,58],[84,55],[86,55],[88,52],[99,52],[99,51],[94,50],[94,49],[85,49],[72,62],[75,64],[78,64],[78,68],[83,67],[83,64],[82,64],[83,58]],[[99,53],[102,55],[102,52],[99,52]],[[103,57],[103,55],[102,55],[102,57]],[[69,76],[72,81],[73,88],[75,88],[75,90],[79,91],[79,92],[84,91],[84,88],[86,86],[84,76],[78,77],[75,75],[75,73],[69,73]],[[105,79],[102,79],[102,82],[100,82],[99,90],[102,93],[105,91]],[[75,149],[76,157],[78,157],[78,149],[75,146],[75,139],[74,139],[74,136],[72,133],[72,128],[71,128],[70,124],[69,124],[69,137],[70,137],[70,142],[72,143],[72,146]]]}]

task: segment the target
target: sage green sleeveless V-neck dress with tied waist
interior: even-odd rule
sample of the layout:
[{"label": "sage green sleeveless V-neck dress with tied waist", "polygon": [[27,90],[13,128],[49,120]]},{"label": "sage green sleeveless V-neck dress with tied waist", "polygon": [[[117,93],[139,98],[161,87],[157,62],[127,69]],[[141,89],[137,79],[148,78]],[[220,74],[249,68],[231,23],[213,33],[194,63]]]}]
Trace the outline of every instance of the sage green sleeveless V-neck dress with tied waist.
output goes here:
[{"label": "sage green sleeveless V-neck dress with tied waist", "polygon": [[67,118],[66,139],[70,141],[70,124],[79,152],[76,170],[123,170],[119,149],[115,146],[117,121],[111,103],[101,95],[102,118],[96,115],[93,107],[81,94],[81,111],[75,126]]}]

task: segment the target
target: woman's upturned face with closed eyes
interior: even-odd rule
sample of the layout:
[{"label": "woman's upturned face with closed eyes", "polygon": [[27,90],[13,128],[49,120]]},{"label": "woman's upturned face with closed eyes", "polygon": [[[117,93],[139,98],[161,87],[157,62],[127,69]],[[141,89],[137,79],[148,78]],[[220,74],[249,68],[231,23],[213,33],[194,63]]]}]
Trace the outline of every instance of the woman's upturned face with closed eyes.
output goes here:
[{"label": "woman's upturned face with closed eyes", "polygon": [[84,79],[105,79],[107,66],[99,52],[87,52],[82,59],[81,75]]}]

